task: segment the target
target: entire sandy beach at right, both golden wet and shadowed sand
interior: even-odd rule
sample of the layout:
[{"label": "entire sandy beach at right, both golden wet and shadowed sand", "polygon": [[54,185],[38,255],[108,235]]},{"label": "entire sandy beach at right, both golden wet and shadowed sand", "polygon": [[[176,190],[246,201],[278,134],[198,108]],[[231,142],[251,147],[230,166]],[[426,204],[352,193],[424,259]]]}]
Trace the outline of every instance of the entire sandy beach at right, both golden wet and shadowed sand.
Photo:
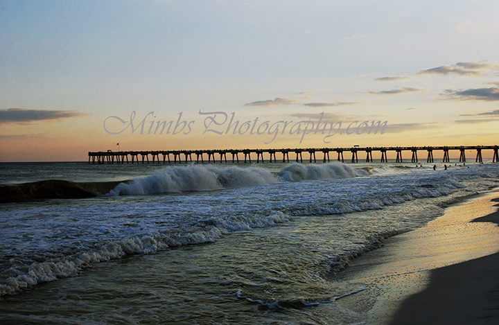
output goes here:
[{"label": "entire sandy beach at right, both golden wet and shadowed sand", "polygon": [[453,205],[356,258],[339,276],[365,290],[338,305],[367,324],[499,324],[496,202],[493,191]]}]

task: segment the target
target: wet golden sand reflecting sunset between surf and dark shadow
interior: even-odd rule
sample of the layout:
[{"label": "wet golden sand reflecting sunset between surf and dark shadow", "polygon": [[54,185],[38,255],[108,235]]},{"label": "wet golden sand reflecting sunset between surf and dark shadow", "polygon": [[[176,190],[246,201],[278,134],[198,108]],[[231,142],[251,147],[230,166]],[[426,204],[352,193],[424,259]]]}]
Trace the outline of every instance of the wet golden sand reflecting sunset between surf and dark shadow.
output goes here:
[{"label": "wet golden sand reflecting sunset between surf and dark shadow", "polygon": [[492,197],[499,197],[499,193],[448,207],[444,216],[426,227],[388,238],[385,247],[352,261],[340,276],[365,284],[360,295],[366,295],[369,302],[360,306],[344,299],[341,304],[365,311],[368,324],[388,324],[406,297],[428,286],[432,270],[498,252],[499,227],[471,222],[496,211]]}]

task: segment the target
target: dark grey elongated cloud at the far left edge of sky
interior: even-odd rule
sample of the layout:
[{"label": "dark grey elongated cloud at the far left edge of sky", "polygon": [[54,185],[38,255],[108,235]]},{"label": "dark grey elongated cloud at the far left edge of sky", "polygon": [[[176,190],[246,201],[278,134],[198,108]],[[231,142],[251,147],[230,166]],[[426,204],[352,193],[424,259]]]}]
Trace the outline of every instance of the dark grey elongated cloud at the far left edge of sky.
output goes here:
[{"label": "dark grey elongated cloud at the far left edge of sky", "polygon": [[76,111],[51,111],[42,109],[9,108],[0,109],[0,124],[58,120],[60,118],[86,115],[88,114]]}]

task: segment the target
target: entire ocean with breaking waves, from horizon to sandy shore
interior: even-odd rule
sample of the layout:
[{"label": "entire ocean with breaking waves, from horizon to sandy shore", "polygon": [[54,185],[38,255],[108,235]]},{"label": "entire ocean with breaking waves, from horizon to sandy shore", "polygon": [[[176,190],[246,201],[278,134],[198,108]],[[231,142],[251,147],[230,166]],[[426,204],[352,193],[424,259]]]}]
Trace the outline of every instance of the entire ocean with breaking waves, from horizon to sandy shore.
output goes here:
[{"label": "entire ocean with breaking waves, from horizon to sandy shore", "polygon": [[362,324],[349,261],[499,186],[433,165],[0,164],[0,323]]}]

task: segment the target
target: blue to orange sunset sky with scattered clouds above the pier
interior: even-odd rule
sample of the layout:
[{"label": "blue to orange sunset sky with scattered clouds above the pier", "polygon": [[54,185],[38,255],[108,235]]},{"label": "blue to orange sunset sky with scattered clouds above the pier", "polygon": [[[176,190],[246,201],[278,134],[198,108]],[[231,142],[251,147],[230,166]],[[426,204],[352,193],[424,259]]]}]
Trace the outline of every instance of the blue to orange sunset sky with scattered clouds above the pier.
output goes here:
[{"label": "blue to orange sunset sky with scattered clouds above the pier", "polygon": [[495,0],[0,0],[0,161],[496,145],[498,16]]}]

